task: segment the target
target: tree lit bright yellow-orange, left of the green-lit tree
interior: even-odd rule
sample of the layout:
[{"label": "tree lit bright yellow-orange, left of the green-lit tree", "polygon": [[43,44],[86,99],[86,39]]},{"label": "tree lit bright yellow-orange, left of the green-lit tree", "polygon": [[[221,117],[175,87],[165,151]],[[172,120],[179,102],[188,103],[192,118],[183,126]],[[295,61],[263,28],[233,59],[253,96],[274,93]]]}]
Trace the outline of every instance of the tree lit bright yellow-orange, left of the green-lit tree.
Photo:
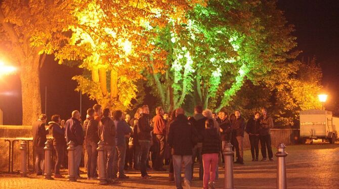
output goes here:
[{"label": "tree lit bright yellow-orange, left of the green-lit tree", "polygon": [[202,1],[79,1],[69,42],[56,54],[59,63],[79,60],[77,90],[104,107],[126,110],[137,97],[141,72],[163,73],[166,52],[151,38],[170,18]]}]

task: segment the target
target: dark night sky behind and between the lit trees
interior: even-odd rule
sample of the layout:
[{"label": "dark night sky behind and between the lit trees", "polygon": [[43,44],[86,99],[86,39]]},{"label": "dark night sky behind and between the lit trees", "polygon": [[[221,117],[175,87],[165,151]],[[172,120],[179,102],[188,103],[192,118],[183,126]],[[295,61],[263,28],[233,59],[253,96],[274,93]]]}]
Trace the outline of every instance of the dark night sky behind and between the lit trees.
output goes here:
[{"label": "dark night sky behind and between the lit trees", "polygon": [[[280,0],[278,9],[284,11],[289,24],[295,26],[293,35],[298,39],[298,59],[317,59],[323,70],[322,84],[329,95],[325,108],[339,113],[339,1],[336,0]],[[74,91],[76,81],[71,80],[81,70],[58,65],[53,56],[46,59],[41,69],[41,102],[45,113],[45,87],[47,86],[47,115],[60,114],[70,117],[72,110],[80,109],[80,93]],[[4,112],[4,124],[21,124],[20,80],[16,75],[0,78],[0,109]],[[95,104],[82,96],[82,117]]]}]

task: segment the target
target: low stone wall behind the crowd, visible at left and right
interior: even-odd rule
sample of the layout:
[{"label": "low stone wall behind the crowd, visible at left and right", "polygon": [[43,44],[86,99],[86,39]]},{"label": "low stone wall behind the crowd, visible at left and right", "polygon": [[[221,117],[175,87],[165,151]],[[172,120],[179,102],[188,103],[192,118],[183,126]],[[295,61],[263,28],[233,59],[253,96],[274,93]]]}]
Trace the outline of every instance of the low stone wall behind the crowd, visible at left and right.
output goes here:
[{"label": "low stone wall behind the crowd, visible at left and right", "polygon": [[[50,132],[51,133],[51,132]],[[0,125],[0,138],[5,137],[32,137],[32,126],[30,125]],[[297,143],[299,138],[299,129],[271,129],[271,138],[272,138],[272,148],[277,146],[280,143],[285,145],[292,145]],[[14,145],[14,166],[13,170],[19,170],[19,142],[16,142]],[[32,166],[32,143],[29,143],[30,148],[30,165]],[[249,149],[249,139],[247,133],[244,135],[244,149]],[[5,143],[4,139],[0,140],[0,171],[8,171],[8,152],[9,144]],[[30,166],[30,169],[32,167]]]}]

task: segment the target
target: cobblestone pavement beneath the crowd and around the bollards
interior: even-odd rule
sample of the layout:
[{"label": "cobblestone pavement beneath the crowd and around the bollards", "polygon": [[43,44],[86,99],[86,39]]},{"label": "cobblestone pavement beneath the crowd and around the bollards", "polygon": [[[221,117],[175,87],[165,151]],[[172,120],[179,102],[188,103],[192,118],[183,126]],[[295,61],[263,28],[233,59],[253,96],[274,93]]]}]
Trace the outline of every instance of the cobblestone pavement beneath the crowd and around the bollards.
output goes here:
[{"label": "cobblestone pavement beneath the crowd and around the bollards", "polygon": [[[276,151],[273,149],[273,151]],[[288,188],[339,188],[339,145],[315,144],[295,145],[286,148],[287,186]],[[234,165],[234,182],[236,188],[275,188],[276,162],[251,162],[250,152],[244,152],[244,165]],[[223,188],[224,174],[219,169],[217,188]],[[197,176],[195,168],[195,177]],[[64,175],[67,173],[64,172]],[[67,179],[46,180],[41,176],[0,174],[0,188],[175,188],[174,182],[167,181],[166,172],[150,171],[149,180],[140,178],[140,173],[130,171],[130,179],[121,180],[121,184],[98,185],[95,180],[81,179],[69,182]],[[83,177],[86,175],[83,174]],[[191,188],[202,188],[202,181],[194,180]]]}]

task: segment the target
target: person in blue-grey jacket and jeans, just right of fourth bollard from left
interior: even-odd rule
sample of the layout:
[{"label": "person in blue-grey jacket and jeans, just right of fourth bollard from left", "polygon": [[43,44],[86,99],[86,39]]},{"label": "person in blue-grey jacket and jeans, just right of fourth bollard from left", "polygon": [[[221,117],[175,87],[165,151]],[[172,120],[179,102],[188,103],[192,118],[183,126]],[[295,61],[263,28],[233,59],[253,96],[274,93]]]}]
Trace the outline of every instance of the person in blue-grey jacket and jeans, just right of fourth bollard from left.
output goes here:
[{"label": "person in blue-grey jacket and jeans, just right of fourth bollard from left", "polygon": [[113,113],[114,125],[116,125],[115,134],[115,153],[113,160],[113,176],[119,172],[119,178],[129,178],[123,172],[126,155],[126,137],[130,137],[132,132],[130,126],[122,119],[121,110],[116,110]]}]

